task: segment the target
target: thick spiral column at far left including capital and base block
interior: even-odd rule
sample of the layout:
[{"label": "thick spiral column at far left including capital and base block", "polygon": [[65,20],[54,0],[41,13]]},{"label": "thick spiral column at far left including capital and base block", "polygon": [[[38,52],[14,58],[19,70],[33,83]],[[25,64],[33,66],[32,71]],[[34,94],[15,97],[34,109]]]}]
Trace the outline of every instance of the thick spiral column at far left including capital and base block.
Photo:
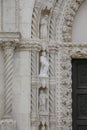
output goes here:
[{"label": "thick spiral column at far left including capital and base block", "polygon": [[16,128],[16,122],[12,118],[13,55],[15,45],[14,41],[2,43],[4,51],[4,116],[0,121],[1,130]]}]

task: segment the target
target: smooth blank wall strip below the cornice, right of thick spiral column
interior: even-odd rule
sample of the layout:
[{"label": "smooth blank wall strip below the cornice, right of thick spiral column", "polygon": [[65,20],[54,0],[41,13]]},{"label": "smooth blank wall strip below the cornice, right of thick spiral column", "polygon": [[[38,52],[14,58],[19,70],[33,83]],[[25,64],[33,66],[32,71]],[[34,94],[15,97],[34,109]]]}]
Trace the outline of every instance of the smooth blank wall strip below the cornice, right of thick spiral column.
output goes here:
[{"label": "smooth blank wall strip below the cornice, right of thick spiral column", "polygon": [[28,51],[15,53],[13,116],[18,130],[30,128],[31,54]]}]

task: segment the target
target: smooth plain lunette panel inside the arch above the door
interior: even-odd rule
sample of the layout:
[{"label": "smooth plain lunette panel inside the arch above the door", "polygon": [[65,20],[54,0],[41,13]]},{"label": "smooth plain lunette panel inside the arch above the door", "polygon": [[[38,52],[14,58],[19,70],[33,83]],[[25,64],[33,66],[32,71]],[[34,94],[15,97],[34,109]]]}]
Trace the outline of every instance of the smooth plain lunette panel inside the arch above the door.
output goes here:
[{"label": "smooth plain lunette panel inside the arch above the door", "polygon": [[73,42],[87,42],[87,1],[81,5],[77,12],[73,30],[72,30]]}]

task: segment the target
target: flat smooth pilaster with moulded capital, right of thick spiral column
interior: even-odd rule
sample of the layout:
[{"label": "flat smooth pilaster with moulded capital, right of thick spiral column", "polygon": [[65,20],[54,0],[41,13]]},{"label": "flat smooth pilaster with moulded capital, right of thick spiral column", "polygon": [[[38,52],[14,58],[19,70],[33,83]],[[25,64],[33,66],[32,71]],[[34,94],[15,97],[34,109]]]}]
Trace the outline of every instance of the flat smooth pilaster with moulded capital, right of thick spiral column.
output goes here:
[{"label": "flat smooth pilaster with moulded capital, right of thick spiral column", "polygon": [[18,122],[18,127],[21,130],[24,130],[24,128],[26,130],[31,129],[31,48],[30,41],[21,41],[16,48],[16,52],[19,53],[20,68],[17,78],[19,79],[20,84],[18,85],[21,88],[21,94],[19,95],[20,100],[18,104],[20,111],[16,112],[15,115],[22,122],[22,125],[19,125]]}]

